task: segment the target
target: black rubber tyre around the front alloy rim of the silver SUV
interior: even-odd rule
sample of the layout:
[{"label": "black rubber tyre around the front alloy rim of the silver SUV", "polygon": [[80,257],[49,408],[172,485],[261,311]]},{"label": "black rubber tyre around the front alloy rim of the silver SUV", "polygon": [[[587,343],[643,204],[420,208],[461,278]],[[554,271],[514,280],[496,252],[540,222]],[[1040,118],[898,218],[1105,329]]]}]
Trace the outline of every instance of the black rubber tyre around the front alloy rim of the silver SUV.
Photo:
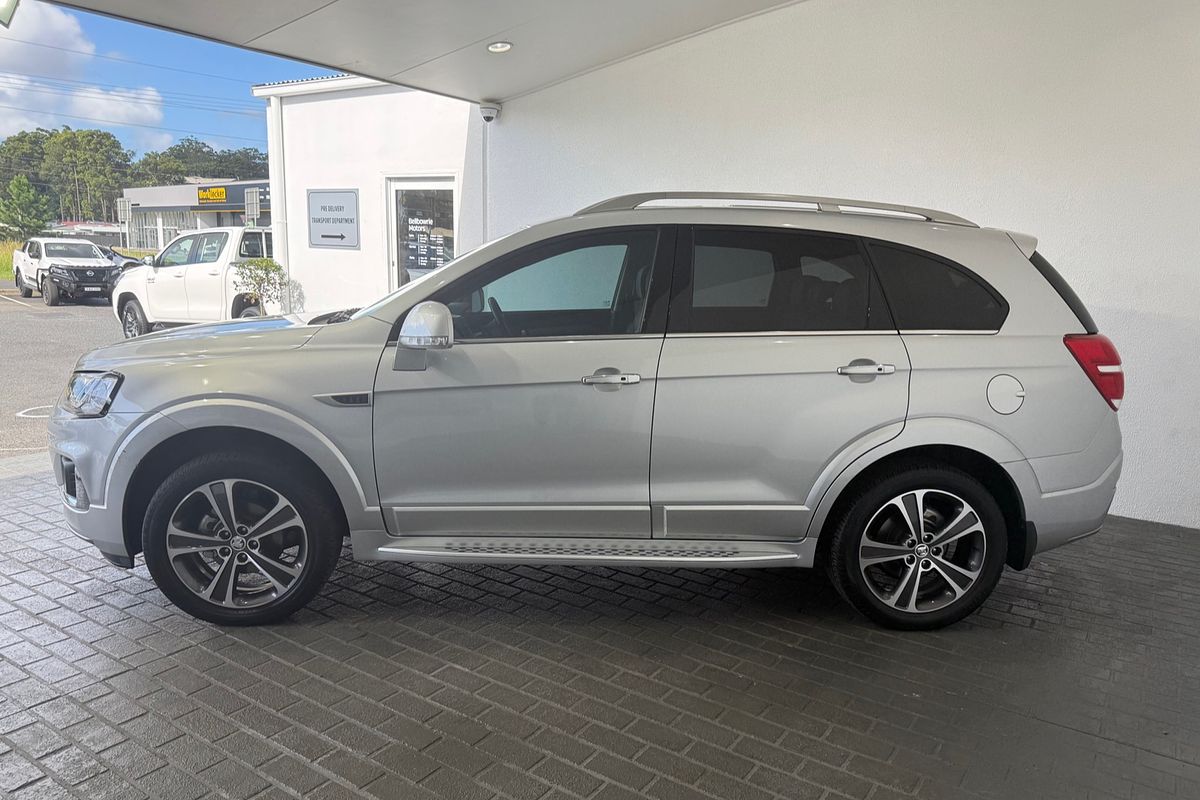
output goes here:
[{"label": "black rubber tyre around the front alloy rim of the silver SUV", "polygon": [[[186,515],[186,509],[190,507],[188,504],[191,503],[200,503],[202,507],[211,509],[212,506],[205,504],[203,499],[196,499],[199,497],[196,492],[199,487],[211,486],[226,480],[251,482],[254,486],[275,492],[280,499],[286,499],[294,507],[298,519],[304,527],[300,535],[305,537],[305,552],[299,573],[296,577],[290,578],[292,583],[282,593],[272,588],[268,589],[265,594],[252,595],[258,597],[263,604],[230,607],[205,600],[197,594],[197,590],[185,583],[167,553],[167,528],[173,516],[176,523],[181,523],[182,517],[180,515]],[[235,486],[230,495],[238,498],[238,491]],[[158,589],[167,599],[198,619],[216,622],[217,625],[265,625],[283,620],[312,600],[337,564],[337,558],[342,548],[342,537],[346,534],[346,519],[336,510],[336,503],[328,493],[328,487],[323,486],[307,470],[295,469],[292,464],[287,469],[281,469],[281,464],[277,461],[265,455],[218,452],[199,456],[168,475],[167,480],[162,482],[150,499],[142,528],[142,547],[145,554],[146,567],[150,570],[150,575],[154,577]],[[240,506],[241,516],[250,517],[253,521],[252,504],[244,504],[235,500],[234,506],[235,516],[239,513],[236,507]],[[268,512],[263,512],[263,517],[258,522],[263,522]],[[250,522],[251,529],[248,533],[245,533],[247,542],[253,537],[254,524],[257,523]],[[290,533],[294,534],[295,530]],[[233,539],[227,539],[233,543],[234,539],[240,540],[242,535],[244,531],[239,527],[238,535]],[[236,581],[241,581],[242,578],[254,578],[252,557],[266,553],[265,543],[262,546],[262,552],[258,549],[246,551],[245,545],[242,545],[242,548],[239,552],[230,552],[229,555],[224,555],[223,553],[214,554],[214,558],[224,555],[226,559],[241,558],[242,553],[251,557],[251,566],[242,567],[241,577],[235,579],[235,585],[239,585]],[[223,549],[229,551],[230,548],[226,547]],[[191,559],[191,561],[187,561],[190,565],[194,561],[196,557],[184,555],[182,558]],[[187,569],[185,567],[184,571],[186,573]],[[258,572],[265,576],[260,569]],[[239,573],[234,572],[234,575]],[[202,584],[210,577],[215,578],[216,576],[216,570],[210,570],[210,572],[205,573],[202,567],[197,584]],[[262,584],[262,581],[259,581],[259,584]],[[228,587],[229,584],[226,582],[223,585]]]}]

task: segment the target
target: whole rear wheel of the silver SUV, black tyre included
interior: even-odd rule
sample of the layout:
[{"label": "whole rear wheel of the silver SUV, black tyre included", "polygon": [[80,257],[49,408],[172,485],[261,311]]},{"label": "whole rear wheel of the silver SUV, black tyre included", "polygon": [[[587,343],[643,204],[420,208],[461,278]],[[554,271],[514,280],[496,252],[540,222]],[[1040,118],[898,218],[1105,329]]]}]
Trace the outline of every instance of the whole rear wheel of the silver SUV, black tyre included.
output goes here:
[{"label": "whole rear wheel of the silver SUV, black tyre included", "polygon": [[[914,515],[902,511],[917,503],[925,509],[919,537],[905,522]],[[959,515],[960,525],[949,527]],[[964,525],[973,533],[952,539]],[[911,462],[877,476],[850,500],[832,536],[827,569],[839,594],[875,622],[907,631],[944,627],[972,614],[996,588],[1008,552],[1004,516],[991,493],[936,462]],[[949,541],[937,546],[943,540]],[[863,567],[872,555],[887,560]],[[967,575],[976,576],[970,584]]]}]

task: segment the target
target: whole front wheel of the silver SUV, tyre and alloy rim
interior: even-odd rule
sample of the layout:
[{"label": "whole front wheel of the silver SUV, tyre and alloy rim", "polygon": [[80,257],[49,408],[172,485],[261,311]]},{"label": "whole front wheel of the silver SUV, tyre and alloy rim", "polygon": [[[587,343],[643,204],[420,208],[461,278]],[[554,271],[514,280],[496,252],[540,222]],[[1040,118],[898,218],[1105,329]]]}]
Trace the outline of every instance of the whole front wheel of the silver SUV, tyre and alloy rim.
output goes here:
[{"label": "whole front wheel of the silver SUV, tyre and alloy rim", "polygon": [[175,606],[218,625],[260,625],[317,594],[343,531],[316,480],[262,456],[215,453],[184,464],[155,492],[142,543]]}]

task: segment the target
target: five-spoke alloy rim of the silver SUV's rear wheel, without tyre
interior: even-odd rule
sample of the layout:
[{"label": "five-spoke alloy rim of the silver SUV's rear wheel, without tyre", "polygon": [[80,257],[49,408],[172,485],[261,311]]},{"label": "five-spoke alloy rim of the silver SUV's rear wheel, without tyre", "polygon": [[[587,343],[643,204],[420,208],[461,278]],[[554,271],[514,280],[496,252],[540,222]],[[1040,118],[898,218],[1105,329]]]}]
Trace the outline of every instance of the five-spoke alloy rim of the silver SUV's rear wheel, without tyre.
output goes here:
[{"label": "five-spoke alloy rim of the silver SUV's rear wheel, without tyre", "polygon": [[988,552],[971,505],[942,489],[914,489],[888,500],[863,529],[858,569],[868,589],[905,613],[946,608],[974,585]]}]

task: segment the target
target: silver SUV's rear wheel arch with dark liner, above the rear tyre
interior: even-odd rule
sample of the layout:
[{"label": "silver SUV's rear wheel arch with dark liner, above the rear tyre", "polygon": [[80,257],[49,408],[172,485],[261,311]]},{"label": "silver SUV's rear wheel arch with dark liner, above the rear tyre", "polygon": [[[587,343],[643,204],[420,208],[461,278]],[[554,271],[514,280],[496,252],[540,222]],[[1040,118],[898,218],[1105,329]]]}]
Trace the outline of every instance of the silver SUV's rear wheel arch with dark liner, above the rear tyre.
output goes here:
[{"label": "silver SUV's rear wheel arch with dark liner, above the rear tyre", "polygon": [[[937,423],[944,427],[947,422],[955,435],[946,435],[947,431],[934,435]],[[918,425],[910,421],[900,437],[860,452],[845,464],[836,477],[827,483],[809,523],[808,535],[817,536],[817,563],[823,563],[826,557],[826,548],[832,539],[827,534],[838,524],[857,491],[869,485],[881,471],[906,461],[942,463],[982,482],[1004,516],[1008,565],[1016,570],[1028,566],[1037,547],[1037,533],[1026,517],[1021,483],[1006,467],[1006,463],[1013,462],[1024,464],[1024,456],[998,433],[961,420],[926,420],[918,421]]]}]

